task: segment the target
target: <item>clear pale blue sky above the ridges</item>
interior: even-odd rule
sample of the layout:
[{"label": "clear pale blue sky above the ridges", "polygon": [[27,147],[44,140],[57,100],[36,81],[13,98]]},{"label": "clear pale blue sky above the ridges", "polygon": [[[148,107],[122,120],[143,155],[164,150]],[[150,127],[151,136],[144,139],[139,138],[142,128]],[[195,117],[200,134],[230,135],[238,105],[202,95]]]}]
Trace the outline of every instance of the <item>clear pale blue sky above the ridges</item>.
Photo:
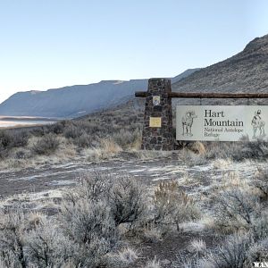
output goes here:
[{"label": "clear pale blue sky above the ridges", "polygon": [[18,91],[172,77],[268,34],[266,0],[0,0],[0,103]]}]

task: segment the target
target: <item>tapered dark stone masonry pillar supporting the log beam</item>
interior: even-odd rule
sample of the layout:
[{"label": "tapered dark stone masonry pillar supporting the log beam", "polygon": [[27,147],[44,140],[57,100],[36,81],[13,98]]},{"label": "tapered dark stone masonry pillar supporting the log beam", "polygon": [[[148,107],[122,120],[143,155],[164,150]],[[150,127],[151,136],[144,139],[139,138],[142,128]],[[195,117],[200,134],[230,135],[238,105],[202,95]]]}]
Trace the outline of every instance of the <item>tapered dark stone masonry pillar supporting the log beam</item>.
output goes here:
[{"label": "tapered dark stone masonry pillar supporting the log beam", "polygon": [[[172,98],[168,97],[168,92],[171,91],[171,80],[150,79],[148,81],[142,149],[164,151],[173,149]],[[160,97],[160,102],[157,102],[158,96]],[[150,126],[150,118],[156,119],[156,121],[159,121],[159,118],[161,118],[161,127],[152,127],[152,124]]]}]

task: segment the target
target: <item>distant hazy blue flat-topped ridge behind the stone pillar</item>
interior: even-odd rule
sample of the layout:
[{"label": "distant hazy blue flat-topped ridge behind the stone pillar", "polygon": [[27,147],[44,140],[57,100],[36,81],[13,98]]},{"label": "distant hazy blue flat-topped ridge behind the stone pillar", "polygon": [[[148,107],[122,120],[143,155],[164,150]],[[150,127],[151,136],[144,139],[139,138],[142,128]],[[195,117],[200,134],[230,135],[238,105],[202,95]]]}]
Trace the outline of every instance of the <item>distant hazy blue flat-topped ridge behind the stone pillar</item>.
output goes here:
[{"label": "distant hazy blue flat-topped ridge behind the stone pillar", "polygon": [[[180,73],[178,81],[198,69]],[[104,80],[84,86],[71,86],[46,91],[18,92],[0,105],[0,114],[8,116],[80,117],[84,114],[125,104],[135,91],[147,90],[147,80]]]}]

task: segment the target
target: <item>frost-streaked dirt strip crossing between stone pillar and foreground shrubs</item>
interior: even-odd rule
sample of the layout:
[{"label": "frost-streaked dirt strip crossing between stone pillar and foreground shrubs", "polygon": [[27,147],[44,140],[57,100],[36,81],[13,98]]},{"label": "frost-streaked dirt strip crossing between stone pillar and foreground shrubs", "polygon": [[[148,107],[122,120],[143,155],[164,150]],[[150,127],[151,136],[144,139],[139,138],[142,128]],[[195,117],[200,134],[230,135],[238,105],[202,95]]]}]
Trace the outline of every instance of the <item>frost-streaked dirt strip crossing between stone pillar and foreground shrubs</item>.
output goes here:
[{"label": "frost-streaked dirt strip crossing between stone pillar and foreground shrubs", "polygon": [[[125,158],[124,158],[125,159]],[[214,163],[203,165],[186,165],[172,155],[149,159],[113,159],[100,163],[89,163],[85,160],[53,165],[44,164],[38,168],[24,168],[15,171],[0,171],[0,197],[14,194],[41,192],[54,188],[74,185],[85,173],[94,171],[109,174],[130,174],[147,186],[153,186],[163,180],[180,180],[188,176],[192,184],[185,190],[202,190],[214,180],[221,180],[224,174],[237,172],[242,177],[252,176],[265,163],[241,162],[227,166],[216,166]],[[217,164],[219,165],[219,164]]]}]

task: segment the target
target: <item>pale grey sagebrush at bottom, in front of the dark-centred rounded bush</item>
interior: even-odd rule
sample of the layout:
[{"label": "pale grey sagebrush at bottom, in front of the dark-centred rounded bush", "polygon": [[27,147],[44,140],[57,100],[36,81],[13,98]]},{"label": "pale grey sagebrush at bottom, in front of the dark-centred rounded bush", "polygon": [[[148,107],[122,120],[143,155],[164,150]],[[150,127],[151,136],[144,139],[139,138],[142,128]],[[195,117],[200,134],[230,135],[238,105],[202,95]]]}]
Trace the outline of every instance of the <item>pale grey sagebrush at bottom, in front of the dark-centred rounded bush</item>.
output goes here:
[{"label": "pale grey sagebrush at bottom, in front of the dark-centred rounded bush", "polygon": [[73,259],[81,267],[97,267],[118,243],[118,232],[105,202],[80,199],[75,205],[65,204],[61,222],[64,233],[77,247]]}]

